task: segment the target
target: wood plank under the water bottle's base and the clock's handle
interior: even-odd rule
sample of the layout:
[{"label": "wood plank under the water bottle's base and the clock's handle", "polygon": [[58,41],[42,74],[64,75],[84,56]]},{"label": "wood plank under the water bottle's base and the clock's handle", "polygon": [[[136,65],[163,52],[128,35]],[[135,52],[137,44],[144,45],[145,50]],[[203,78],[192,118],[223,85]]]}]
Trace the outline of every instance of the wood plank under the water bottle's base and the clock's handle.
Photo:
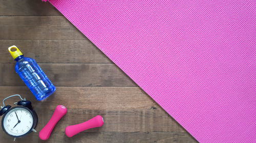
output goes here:
[{"label": "wood plank under the water bottle's base and the clock's handle", "polygon": [[[59,104],[68,109],[87,110],[161,109],[139,87],[56,87],[53,95],[44,102],[37,101],[27,87],[0,87],[0,103],[13,94],[27,98],[38,109],[46,107],[53,110]],[[10,98],[7,103],[17,100],[18,97]]]}]

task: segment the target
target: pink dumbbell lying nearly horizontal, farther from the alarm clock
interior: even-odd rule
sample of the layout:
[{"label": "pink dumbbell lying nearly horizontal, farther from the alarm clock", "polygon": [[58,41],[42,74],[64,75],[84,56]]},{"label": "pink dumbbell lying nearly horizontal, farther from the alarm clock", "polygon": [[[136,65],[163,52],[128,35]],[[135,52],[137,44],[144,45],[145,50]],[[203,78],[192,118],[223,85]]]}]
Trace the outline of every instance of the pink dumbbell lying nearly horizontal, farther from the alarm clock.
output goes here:
[{"label": "pink dumbbell lying nearly horizontal, farther from the alarm clock", "polygon": [[66,127],[65,133],[68,137],[72,137],[81,131],[88,130],[95,127],[101,127],[103,123],[104,123],[103,118],[98,115],[81,124],[76,124],[76,125]]}]

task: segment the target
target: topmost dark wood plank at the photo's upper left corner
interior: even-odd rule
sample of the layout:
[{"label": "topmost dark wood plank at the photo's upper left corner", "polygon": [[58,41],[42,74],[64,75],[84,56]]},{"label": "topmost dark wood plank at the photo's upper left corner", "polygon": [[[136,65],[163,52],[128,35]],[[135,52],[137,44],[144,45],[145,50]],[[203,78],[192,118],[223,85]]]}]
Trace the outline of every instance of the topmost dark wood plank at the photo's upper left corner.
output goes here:
[{"label": "topmost dark wood plank at the photo's upper left corner", "polygon": [[0,15],[61,15],[49,2],[40,0],[2,0]]}]

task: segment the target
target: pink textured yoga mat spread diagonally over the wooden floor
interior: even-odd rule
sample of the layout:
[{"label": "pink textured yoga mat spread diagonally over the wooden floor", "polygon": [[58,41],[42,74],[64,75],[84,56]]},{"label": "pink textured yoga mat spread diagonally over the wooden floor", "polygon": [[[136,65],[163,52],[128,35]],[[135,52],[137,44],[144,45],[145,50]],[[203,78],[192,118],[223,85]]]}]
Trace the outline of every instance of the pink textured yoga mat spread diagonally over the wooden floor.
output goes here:
[{"label": "pink textured yoga mat spread diagonally over the wooden floor", "polygon": [[256,142],[256,2],[49,0],[199,142]]}]

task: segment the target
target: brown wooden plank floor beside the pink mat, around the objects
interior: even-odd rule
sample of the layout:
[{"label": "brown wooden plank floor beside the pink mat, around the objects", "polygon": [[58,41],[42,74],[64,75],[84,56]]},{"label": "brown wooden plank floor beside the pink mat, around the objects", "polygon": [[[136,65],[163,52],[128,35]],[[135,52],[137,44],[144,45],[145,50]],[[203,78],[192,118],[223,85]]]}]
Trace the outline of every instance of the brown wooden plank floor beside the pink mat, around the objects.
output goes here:
[{"label": "brown wooden plank floor beside the pink mat, around the objects", "polygon": [[[14,71],[8,47],[16,45],[34,58],[56,86],[46,101],[36,101]],[[54,108],[67,114],[48,142],[197,142],[129,77],[111,62],[49,3],[40,0],[0,1],[0,100],[20,94],[32,101],[40,131]],[[18,98],[11,98],[12,104]],[[65,127],[101,115],[104,125],[72,138]],[[0,130],[0,142],[13,138]],[[16,142],[45,142],[31,133]]]}]

